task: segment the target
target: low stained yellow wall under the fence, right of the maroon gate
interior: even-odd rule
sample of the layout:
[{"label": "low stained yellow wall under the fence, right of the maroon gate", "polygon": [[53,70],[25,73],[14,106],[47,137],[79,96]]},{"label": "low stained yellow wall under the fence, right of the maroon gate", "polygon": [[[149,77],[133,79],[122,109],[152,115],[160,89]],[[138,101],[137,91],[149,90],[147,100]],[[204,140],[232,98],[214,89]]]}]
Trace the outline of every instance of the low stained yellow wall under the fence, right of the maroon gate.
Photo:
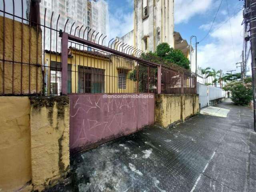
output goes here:
[{"label": "low stained yellow wall under the fence, right of the maroon gate", "polygon": [[157,94],[155,123],[168,127],[198,114],[198,99],[197,94]]}]

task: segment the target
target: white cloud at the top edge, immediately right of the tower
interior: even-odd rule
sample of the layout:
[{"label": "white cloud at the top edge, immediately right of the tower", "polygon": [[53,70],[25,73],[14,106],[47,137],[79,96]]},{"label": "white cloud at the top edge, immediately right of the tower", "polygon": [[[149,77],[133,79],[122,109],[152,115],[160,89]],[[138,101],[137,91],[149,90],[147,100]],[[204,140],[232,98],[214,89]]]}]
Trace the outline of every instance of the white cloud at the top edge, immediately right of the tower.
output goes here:
[{"label": "white cloud at the top edge, immediately right of the tower", "polygon": [[214,0],[175,0],[174,1],[174,20],[175,24],[188,22],[196,14],[204,14],[212,8]]}]

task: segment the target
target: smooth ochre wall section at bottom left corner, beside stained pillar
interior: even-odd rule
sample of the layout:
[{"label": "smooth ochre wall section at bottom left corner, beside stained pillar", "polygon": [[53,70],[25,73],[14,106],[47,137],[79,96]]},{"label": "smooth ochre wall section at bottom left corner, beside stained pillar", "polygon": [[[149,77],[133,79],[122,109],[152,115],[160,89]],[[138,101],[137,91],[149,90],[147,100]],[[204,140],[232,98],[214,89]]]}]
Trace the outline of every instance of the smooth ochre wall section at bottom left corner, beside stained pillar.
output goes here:
[{"label": "smooth ochre wall section at bottom left corner, beside stained pillar", "polygon": [[0,97],[0,191],[22,188],[32,178],[30,100]]}]

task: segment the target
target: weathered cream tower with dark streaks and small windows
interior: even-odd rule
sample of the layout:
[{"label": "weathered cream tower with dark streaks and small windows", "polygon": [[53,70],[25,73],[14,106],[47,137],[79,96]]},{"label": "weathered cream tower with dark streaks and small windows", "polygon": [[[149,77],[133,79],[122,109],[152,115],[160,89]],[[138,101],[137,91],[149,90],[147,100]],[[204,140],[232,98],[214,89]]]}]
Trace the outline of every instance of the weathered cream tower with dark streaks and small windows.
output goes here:
[{"label": "weathered cream tower with dark streaks and small windows", "polygon": [[134,0],[134,30],[118,39],[144,51],[174,47],[174,0]]}]

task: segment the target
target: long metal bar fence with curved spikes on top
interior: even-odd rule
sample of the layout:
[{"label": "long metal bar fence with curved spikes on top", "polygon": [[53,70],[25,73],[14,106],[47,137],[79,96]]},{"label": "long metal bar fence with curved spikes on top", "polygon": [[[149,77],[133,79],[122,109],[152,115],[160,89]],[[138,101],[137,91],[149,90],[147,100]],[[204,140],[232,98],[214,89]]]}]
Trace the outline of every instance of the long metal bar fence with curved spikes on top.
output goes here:
[{"label": "long metal bar fence with curved spikes on top", "polygon": [[23,0],[8,2],[8,9],[2,2],[0,95],[195,93],[189,70],[118,39],[106,42],[88,26],[60,24],[62,16],[46,8],[40,19],[39,3],[30,12]]}]

